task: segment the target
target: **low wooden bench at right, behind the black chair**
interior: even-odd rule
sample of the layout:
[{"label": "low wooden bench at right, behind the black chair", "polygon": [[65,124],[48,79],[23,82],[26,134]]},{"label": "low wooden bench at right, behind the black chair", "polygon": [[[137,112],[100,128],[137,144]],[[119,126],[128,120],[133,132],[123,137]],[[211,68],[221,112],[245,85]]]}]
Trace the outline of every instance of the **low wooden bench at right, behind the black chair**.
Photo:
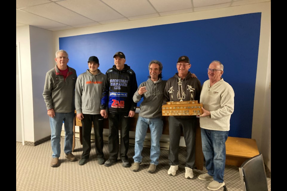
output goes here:
[{"label": "low wooden bench at right, behind the black chair", "polygon": [[240,167],[248,158],[259,155],[255,139],[228,137],[225,146],[227,165]]}]

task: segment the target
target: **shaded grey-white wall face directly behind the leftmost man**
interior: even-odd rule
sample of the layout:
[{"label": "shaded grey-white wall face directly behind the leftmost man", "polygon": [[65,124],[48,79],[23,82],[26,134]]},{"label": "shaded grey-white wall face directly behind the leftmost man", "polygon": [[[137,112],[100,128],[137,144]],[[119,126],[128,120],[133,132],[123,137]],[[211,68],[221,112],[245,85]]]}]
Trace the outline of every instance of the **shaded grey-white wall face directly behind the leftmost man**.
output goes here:
[{"label": "shaded grey-white wall face directly behind the leftmost man", "polygon": [[30,26],[34,141],[51,135],[49,116],[42,96],[45,76],[55,66],[53,32]]}]

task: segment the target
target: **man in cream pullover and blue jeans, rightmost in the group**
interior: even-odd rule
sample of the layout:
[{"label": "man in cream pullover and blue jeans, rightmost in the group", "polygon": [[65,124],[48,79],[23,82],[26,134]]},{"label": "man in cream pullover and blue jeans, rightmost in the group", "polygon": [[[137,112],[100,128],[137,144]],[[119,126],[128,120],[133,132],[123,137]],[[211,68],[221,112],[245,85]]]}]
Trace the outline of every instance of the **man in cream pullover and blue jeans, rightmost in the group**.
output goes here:
[{"label": "man in cream pullover and blue jeans, rightmost in the group", "polygon": [[225,141],[230,129],[230,116],[234,110],[233,88],[221,78],[223,64],[212,61],[207,69],[209,80],[205,81],[200,96],[203,104],[200,115],[202,151],[207,173],[199,175],[200,180],[213,180],[209,190],[218,190],[225,185]]}]

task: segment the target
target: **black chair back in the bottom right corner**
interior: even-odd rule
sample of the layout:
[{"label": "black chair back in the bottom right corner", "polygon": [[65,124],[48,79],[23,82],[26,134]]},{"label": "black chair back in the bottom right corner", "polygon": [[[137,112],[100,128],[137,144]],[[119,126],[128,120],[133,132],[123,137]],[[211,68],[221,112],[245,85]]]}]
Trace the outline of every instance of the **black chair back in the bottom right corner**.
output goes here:
[{"label": "black chair back in the bottom right corner", "polygon": [[262,154],[245,161],[239,173],[244,191],[268,191]]}]

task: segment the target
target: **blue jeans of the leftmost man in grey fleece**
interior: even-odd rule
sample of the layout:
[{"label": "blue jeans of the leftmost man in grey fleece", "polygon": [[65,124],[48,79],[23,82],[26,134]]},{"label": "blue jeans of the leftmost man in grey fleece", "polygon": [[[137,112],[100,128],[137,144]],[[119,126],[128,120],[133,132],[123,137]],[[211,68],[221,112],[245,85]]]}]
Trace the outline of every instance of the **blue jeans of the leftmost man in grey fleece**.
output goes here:
[{"label": "blue jeans of the leftmost man in grey fleece", "polygon": [[51,144],[53,151],[53,158],[59,158],[61,153],[61,131],[64,121],[65,127],[65,147],[64,152],[66,154],[72,153],[73,146],[73,125],[74,125],[74,111],[71,113],[56,113],[55,117],[50,117],[51,127]]}]

